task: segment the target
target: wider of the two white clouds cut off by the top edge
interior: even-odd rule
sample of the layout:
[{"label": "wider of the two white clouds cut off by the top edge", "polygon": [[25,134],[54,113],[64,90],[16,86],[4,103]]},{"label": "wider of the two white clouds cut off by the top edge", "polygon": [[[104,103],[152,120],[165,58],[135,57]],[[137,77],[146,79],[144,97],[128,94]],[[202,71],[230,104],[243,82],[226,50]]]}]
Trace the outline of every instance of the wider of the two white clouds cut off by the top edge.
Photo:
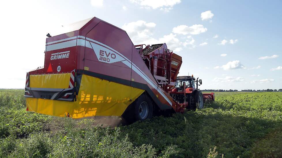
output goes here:
[{"label": "wider of the two white clouds cut off by the top edge", "polygon": [[181,0],[130,0],[132,3],[135,3],[137,5],[141,5],[143,8],[146,9],[157,9],[160,8],[160,10],[163,11],[169,11],[173,8],[174,5],[181,2]]}]

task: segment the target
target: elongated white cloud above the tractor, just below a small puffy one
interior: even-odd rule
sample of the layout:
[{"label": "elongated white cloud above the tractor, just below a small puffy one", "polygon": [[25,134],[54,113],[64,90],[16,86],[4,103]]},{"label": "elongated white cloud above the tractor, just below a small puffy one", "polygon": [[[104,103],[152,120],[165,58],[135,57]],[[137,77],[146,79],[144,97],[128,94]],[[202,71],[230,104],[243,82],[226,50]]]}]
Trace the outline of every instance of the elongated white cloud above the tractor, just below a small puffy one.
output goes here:
[{"label": "elongated white cloud above the tractor, just below a small puffy one", "polygon": [[187,26],[187,25],[178,25],[177,27],[174,27],[172,29],[173,33],[176,34],[200,34],[203,32],[206,32],[208,29],[204,28],[203,25],[200,24],[195,24],[192,26]]}]

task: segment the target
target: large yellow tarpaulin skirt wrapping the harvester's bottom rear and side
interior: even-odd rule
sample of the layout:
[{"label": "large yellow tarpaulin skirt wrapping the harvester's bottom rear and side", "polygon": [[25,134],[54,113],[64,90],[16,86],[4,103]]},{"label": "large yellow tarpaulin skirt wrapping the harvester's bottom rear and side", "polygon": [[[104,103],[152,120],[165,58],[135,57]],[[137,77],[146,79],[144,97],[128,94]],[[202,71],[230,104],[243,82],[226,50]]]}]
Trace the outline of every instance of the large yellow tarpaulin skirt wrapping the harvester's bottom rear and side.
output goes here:
[{"label": "large yellow tarpaulin skirt wrapping the harvester's bottom rear and side", "polygon": [[[82,75],[77,101],[27,98],[29,111],[64,117],[121,116],[144,90]],[[130,101],[130,99],[132,101]]]}]

